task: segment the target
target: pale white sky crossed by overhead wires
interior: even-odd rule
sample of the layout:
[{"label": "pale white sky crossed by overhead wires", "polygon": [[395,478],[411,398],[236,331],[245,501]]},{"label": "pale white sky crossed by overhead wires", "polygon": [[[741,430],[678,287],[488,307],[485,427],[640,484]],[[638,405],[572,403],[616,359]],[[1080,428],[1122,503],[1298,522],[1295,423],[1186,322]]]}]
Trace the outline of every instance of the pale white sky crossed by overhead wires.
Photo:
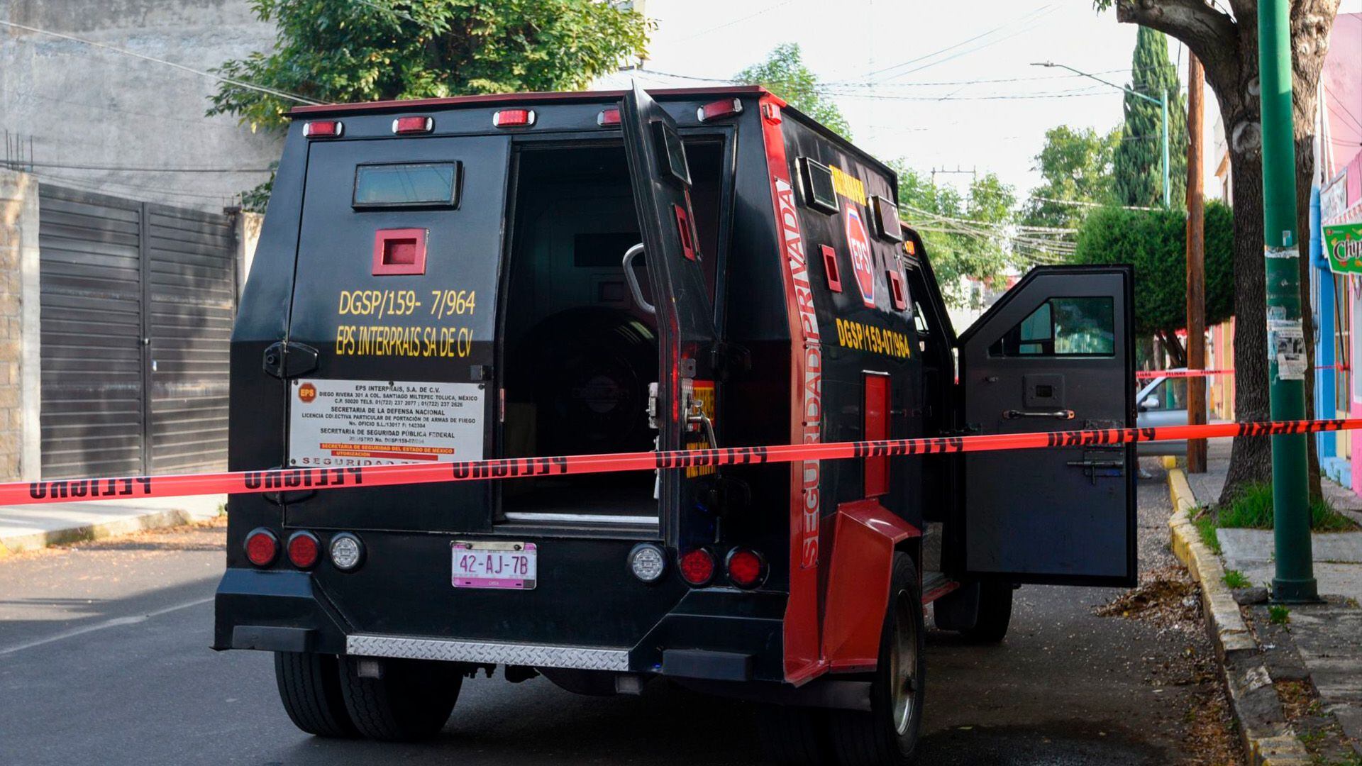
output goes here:
[{"label": "pale white sky crossed by overhead wires", "polygon": [[[1344,0],[1340,11],[1362,11],[1362,0]],[[996,172],[1019,199],[1039,184],[1034,157],[1047,128],[1106,131],[1121,121],[1120,90],[1031,64],[1054,61],[1124,85],[1136,37],[1133,25],[1088,0],[646,0],[643,12],[658,29],[644,70],[632,76],[647,85],[727,79],[776,45],[798,42],[838,94],[858,146],[921,170]],[[1185,85],[1186,50],[1169,44]],[[1207,89],[1208,129],[1215,119]],[[1208,155],[1211,146],[1207,136]]]}]

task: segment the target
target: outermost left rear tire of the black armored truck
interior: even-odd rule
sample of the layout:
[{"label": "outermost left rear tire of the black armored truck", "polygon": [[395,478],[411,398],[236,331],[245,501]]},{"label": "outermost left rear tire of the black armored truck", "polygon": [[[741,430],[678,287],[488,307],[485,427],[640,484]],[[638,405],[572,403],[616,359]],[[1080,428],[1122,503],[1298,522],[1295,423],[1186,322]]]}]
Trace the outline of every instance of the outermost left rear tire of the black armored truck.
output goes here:
[{"label": "outermost left rear tire of the black armored truck", "polygon": [[360,736],[340,692],[335,654],[275,652],[274,680],[294,726],[319,737]]}]

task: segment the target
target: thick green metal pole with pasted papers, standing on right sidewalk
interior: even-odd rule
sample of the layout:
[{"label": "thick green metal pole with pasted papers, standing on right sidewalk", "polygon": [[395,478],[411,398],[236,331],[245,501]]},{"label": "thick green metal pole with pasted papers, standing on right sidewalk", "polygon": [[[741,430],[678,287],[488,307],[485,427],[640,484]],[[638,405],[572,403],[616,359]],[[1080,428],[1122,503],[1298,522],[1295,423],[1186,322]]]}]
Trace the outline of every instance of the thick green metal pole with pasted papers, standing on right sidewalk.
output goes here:
[{"label": "thick green metal pole with pasted papers, standing on right sidewalk", "polygon": [[[1258,82],[1263,85],[1263,237],[1267,271],[1268,391],[1272,420],[1305,418],[1299,236],[1295,230],[1295,139],[1291,121],[1290,0],[1258,1]],[[1272,436],[1272,598],[1318,600],[1310,552],[1303,433]]]}]

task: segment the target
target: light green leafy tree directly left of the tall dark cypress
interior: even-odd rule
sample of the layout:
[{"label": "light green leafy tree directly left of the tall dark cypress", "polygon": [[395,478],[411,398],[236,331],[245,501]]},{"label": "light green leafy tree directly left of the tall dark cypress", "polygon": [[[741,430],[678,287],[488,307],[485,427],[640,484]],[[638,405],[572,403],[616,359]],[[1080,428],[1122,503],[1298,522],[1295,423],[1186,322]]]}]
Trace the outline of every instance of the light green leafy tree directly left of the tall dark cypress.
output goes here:
[{"label": "light green leafy tree directly left of the tall dark cypress", "polygon": [[1121,128],[1113,128],[1106,135],[1069,125],[1045,131],[1045,146],[1032,166],[1041,172],[1042,183],[1031,189],[1022,222],[1072,229],[1083,221],[1088,207],[1062,202],[1113,203],[1111,164],[1120,143]]}]

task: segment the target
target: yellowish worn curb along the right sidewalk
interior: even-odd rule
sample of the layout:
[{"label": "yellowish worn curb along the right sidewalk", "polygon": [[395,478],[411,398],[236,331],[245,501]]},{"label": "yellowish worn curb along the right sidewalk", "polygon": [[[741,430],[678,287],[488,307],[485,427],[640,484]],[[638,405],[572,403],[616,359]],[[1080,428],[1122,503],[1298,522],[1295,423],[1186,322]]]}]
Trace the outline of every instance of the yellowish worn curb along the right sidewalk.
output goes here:
[{"label": "yellowish worn curb along the right sidewalk", "polygon": [[1282,701],[1263,664],[1257,641],[1244,623],[1234,594],[1224,585],[1220,557],[1201,542],[1192,523],[1192,510],[1197,507],[1192,485],[1181,469],[1167,462],[1165,468],[1169,469],[1169,495],[1173,499],[1173,517],[1169,519],[1173,555],[1188,568],[1192,579],[1201,583],[1201,611],[1220,658],[1244,752],[1252,766],[1308,766],[1312,763],[1310,754],[1282,711]]}]

